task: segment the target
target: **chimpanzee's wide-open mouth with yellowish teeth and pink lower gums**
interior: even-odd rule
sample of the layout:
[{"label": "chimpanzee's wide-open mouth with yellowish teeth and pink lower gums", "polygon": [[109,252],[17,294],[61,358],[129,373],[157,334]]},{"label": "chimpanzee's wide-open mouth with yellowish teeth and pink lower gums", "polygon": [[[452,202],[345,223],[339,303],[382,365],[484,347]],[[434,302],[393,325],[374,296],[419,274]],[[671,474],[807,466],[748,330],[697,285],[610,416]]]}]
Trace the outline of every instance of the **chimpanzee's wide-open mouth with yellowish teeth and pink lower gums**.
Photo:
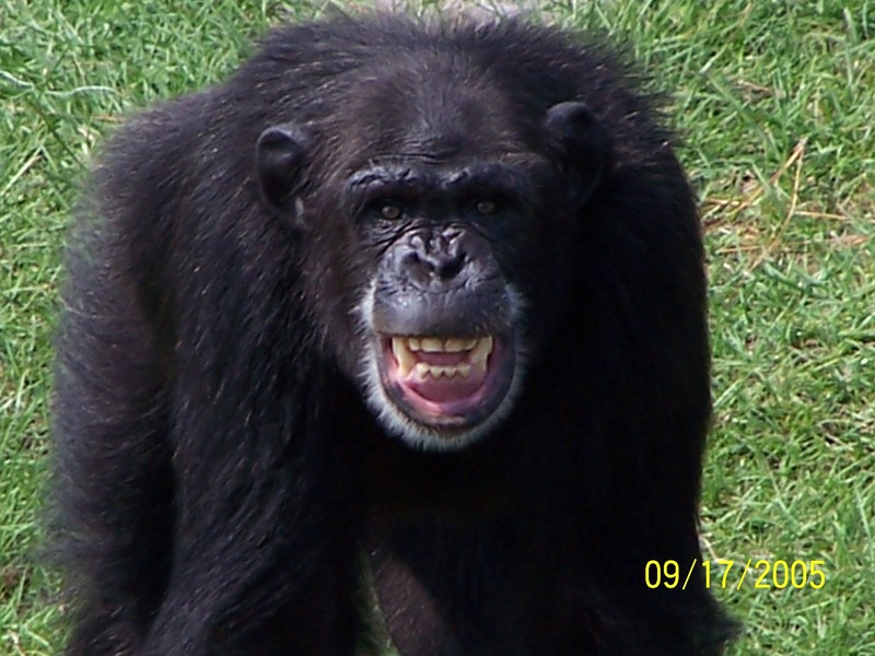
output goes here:
[{"label": "chimpanzee's wide-open mouth with yellowish teeth and pink lower gums", "polygon": [[514,351],[512,333],[382,337],[381,378],[392,400],[411,419],[465,429],[501,405],[513,378]]}]

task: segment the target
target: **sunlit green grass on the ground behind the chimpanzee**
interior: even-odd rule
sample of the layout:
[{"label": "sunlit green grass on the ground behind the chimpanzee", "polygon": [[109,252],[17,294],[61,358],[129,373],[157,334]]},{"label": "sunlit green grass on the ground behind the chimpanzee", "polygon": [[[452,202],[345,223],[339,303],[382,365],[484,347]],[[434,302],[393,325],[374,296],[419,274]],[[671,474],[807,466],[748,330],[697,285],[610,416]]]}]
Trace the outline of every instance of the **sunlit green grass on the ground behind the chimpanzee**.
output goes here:
[{"label": "sunlit green grass on the ground behind the chimpanzee", "polygon": [[[60,649],[36,564],[63,226],[125,112],[220,80],[315,3],[0,0],[0,654]],[[715,424],[705,555],[739,563],[733,654],[875,655],[875,2],[545,7],[632,44],[702,196]],[[756,589],[748,559],[824,560]],[[715,577],[719,587],[719,577]]]}]

